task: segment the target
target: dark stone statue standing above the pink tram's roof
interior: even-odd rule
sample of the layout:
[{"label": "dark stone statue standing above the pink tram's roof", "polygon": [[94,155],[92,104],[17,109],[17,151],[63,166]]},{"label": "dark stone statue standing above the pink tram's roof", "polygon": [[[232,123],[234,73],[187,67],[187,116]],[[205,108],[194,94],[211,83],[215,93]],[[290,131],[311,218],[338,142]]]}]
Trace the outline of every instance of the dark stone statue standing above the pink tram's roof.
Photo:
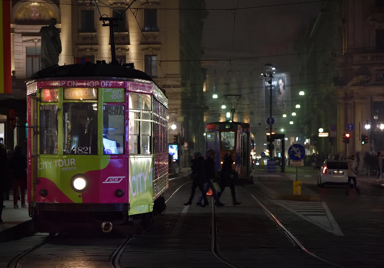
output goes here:
[{"label": "dark stone statue standing above the pink tram's roof", "polygon": [[49,20],[49,26],[40,29],[41,34],[41,69],[57,65],[61,53],[60,30],[55,27],[56,19]]}]

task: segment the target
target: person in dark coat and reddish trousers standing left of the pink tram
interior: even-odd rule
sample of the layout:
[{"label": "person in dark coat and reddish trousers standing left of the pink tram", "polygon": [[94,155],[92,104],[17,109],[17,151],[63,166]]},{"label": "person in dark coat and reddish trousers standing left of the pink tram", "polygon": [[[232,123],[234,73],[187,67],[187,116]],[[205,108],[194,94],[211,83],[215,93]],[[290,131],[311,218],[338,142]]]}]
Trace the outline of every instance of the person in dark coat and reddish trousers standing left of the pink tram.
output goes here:
[{"label": "person in dark coat and reddish trousers standing left of the pink tram", "polygon": [[22,154],[22,147],[15,146],[12,160],[12,173],[13,173],[13,208],[19,208],[17,204],[17,188],[20,186],[20,197],[22,201],[22,208],[26,208],[25,204],[25,182],[26,182],[26,157]]}]

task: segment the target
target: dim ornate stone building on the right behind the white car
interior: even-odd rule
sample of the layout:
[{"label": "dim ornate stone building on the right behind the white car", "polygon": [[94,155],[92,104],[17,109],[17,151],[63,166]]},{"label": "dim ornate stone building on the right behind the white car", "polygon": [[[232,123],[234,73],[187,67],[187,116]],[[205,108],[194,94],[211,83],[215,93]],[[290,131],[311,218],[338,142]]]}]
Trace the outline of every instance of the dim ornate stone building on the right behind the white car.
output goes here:
[{"label": "dim ornate stone building on the right behind the white car", "polygon": [[[308,105],[301,123],[311,152],[346,157],[384,150],[384,2],[324,3],[296,48]],[[319,127],[329,137],[317,137]],[[344,133],[351,134],[349,144]],[[369,144],[362,144],[362,134]]]}]

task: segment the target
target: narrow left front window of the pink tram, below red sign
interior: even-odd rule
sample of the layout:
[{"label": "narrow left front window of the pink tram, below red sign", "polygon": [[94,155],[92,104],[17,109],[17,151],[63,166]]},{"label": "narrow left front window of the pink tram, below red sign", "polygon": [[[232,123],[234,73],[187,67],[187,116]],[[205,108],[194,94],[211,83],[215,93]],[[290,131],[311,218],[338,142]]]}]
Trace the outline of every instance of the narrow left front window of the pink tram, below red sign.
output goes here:
[{"label": "narrow left front window of the pink tram, below red sign", "polygon": [[40,154],[58,154],[58,106],[40,105]]}]

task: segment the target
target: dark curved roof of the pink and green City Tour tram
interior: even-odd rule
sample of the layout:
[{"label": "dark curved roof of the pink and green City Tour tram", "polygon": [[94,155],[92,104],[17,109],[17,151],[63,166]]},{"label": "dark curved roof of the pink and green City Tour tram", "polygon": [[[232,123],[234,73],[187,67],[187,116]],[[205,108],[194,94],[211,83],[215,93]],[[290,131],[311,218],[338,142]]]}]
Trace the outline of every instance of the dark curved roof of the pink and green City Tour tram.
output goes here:
[{"label": "dark curved roof of the pink and green City Tour tram", "polygon": [[112,64],[86,62],[84,64],[54,65],[31,75],[28,80],[50,77],[116,77],[136,78],[154,82],[141,70]]}]

